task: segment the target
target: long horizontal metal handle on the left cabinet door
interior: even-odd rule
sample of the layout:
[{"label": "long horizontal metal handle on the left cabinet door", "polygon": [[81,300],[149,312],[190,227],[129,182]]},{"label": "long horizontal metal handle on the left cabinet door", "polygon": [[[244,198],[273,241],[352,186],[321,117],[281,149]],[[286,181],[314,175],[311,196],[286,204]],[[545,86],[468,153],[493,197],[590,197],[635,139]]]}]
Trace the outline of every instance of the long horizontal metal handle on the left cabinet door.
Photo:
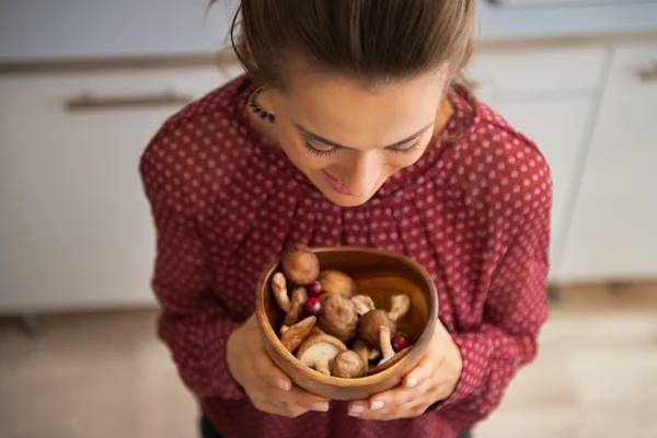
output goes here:
[{"label": "long horizontal metal handle on the left cabinet door", "polygon": [[185,105],[194,100],[187,94],[164,91],[155,94],[130,94],[107,97],[95,97],[90,93],[82,93],[77,97],[69,99],[65,108],[69,112],[94,111],[94,110],[119,110],[119,108],[145,108],[158,106]]}]

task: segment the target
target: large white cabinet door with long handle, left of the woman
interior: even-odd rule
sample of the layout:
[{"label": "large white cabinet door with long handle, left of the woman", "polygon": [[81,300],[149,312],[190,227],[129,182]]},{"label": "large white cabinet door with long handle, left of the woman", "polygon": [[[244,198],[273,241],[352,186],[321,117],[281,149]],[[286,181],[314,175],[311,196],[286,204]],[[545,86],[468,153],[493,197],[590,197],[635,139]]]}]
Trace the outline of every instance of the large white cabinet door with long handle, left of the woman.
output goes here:
[{"label": "large white cabinet door with long handle, left of the woman", "polygon": [[151,302],[139,157],[226,80],[212,67],[0,78],[0,311]]}]

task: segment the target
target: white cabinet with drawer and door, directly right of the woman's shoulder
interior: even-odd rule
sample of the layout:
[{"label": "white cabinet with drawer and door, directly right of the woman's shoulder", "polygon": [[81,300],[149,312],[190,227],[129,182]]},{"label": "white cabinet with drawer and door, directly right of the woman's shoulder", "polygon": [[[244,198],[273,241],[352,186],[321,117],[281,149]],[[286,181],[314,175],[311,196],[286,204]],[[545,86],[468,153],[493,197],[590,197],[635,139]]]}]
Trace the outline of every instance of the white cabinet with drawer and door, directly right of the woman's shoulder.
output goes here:
[{"label": "white cabinet with drawer and door, directly right of the woman's shoulder", "polygon": [[603,46],[492,50],[476,54],[469,69],[479,99],[533,140],[550,164],[554,284],[607,57]]}]

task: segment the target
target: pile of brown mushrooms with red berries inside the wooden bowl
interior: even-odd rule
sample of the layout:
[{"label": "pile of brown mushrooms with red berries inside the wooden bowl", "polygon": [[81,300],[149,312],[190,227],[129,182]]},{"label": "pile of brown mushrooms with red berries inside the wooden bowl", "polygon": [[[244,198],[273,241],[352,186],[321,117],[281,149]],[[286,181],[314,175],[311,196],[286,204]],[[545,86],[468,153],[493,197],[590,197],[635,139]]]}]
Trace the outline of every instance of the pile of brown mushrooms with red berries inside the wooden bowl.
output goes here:
[{"label": "pile of brown mushrooms with red berries inside the wooden bowl", "polygon": [[272,291],[285,312],[280,342],[306,366],[326,376],[354,379],[381,372],[411,347],[397,322],[408,312],[405,293],[391,297],[390,311],[377,309],[359,295],[354,280],[339,270],[321,270],[304,245],[290,247]]}]

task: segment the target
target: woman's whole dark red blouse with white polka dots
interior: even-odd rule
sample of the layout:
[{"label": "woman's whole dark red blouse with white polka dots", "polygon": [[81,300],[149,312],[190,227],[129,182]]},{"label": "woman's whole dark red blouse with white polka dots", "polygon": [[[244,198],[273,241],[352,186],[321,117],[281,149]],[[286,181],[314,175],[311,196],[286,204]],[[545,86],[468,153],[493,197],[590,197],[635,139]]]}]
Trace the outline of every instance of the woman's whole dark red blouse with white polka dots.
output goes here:
[{"label": "woman's whole dark red blouse with white polka dots", "polygon": [[[263,139],[246,78],[172,116],[140,174],[157,228],[159,334],[226,437],[453,437],[488,416],[537,354],[552,182],[535,146],[458,87],[443,139],[366,205],[341,208]],[[434,278],[439,318],[461,349],[454,393],[414,419],[362,422],[334,402],[296,419],[257,412],[230,376],[226,339],[254,311],[263,268],[288,243],[403,253]]]}]

